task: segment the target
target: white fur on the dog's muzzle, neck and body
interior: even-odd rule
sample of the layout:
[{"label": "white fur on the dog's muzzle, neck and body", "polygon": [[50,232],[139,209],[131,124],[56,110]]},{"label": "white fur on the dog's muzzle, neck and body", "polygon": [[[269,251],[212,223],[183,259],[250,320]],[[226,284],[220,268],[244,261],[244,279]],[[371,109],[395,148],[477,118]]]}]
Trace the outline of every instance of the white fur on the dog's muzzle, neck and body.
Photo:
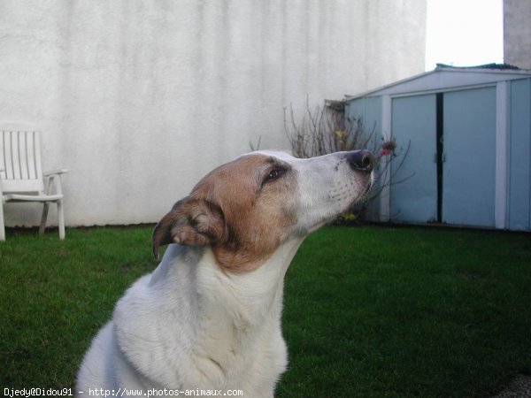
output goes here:
[{"label": "white fur on the dog's muzzle, neck and body", "polygon": [[242,273],[222,269],[208,246],[171,244],[158,268],[127,290],[96,335],[76,391],[86,396],[89,388],[202,388],[273,396],[288,363],[281,308],[289,263],[304,236],[345,210],[365,192],[366,182],[341,154],[307,160],[260,154],[278,157],[296,172],[298,208],[288,238],[264,264]]}]

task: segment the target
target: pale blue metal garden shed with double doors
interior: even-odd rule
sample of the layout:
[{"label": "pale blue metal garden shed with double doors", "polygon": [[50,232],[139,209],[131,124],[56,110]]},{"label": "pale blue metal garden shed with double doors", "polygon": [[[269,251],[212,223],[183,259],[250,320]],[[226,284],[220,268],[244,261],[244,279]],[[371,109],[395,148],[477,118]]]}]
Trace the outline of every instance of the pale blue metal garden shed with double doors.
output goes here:
[{"label": "pale blue metal garden shed with double doors", "polygon": [[347,96],[345,117],[396,141],[373,218],[531,230],[531,71],[438,65]]}]

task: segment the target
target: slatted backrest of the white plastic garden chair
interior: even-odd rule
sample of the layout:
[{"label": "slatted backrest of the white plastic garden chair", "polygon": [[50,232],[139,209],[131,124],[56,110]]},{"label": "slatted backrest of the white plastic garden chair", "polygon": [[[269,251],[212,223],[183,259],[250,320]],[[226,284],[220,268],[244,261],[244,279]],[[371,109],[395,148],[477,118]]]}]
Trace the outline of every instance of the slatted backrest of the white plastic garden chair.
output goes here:
[{"label": "slatted backrest of the white plastic garden chair", "polygon": [[0,123],[0,170],[4,193],[42,192],[41,137],[35,128]]}]

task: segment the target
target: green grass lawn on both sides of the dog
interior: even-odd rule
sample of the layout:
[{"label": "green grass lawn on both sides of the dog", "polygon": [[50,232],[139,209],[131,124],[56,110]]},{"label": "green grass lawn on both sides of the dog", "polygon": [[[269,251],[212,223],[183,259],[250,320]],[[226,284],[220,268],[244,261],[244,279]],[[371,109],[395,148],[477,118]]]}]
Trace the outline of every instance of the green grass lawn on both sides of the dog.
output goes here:
[{"label": "green grass lawn on both sides of the dog", "polygon": [[[114,302],[156,266],[151,227],[8,231],[0,390],[73,387]],[[327,227],[286,277],[279,397],[473,397],[531,372],[531,235]]]}]

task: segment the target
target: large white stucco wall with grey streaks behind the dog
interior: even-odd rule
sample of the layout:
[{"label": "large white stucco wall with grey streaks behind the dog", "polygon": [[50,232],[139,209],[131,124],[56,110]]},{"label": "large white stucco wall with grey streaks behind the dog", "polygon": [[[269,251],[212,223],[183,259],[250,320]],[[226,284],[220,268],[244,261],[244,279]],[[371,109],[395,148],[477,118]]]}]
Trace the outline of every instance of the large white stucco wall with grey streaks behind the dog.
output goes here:
[{"label": "large white stucco wall with grey streaks behind the dog", "polygon": [[[425,14],[426,0],[0,0],[0,119],[42,126],[44,169],[70,170],[66,225],[155,222],[258,136],[289,149],[289,103],[422,72]],[[37,204],[4,210],[38,223]]]}]

